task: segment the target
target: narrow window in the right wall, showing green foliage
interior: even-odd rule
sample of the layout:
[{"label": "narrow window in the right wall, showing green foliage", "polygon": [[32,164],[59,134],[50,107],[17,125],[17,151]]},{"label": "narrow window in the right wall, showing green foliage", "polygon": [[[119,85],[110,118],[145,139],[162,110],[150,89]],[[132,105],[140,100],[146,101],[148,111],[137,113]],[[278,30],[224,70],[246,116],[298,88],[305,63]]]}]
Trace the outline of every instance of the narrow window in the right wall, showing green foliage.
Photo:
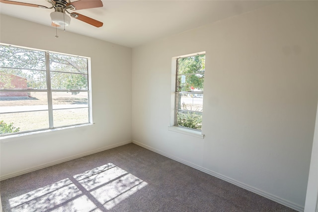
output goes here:
[{"label": "narrow window in the right wall, showing green foliage", "polygon": [[202,130],[205,55],[176,59],[174,126]]}]

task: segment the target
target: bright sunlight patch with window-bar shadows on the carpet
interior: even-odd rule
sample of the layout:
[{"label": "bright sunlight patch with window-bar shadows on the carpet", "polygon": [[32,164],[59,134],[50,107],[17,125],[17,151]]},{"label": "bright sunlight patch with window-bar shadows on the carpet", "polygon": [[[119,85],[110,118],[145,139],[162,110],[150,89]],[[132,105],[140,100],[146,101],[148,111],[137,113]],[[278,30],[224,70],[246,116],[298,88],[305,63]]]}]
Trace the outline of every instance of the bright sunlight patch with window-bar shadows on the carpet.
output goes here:
[{"label": "bright sunlight patch with window-bar shadows on the carpet", "polygon": [[109,210],[148,185],[112,163],[9,200],[11,212]]}]

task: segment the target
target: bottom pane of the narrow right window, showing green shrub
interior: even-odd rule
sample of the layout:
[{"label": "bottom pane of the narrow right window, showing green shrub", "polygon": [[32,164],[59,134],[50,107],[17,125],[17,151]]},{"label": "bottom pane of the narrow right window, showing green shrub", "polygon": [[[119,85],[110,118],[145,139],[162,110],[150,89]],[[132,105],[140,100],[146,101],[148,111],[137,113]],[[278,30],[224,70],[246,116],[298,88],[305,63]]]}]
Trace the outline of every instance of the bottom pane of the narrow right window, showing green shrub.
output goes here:
[{"label": "bottom pane of the narrow right window, showing green shrub", "polygon": [[190,111],[177,112],[177,125],[191,128],[195,130],[202,130],[202,113]]}]

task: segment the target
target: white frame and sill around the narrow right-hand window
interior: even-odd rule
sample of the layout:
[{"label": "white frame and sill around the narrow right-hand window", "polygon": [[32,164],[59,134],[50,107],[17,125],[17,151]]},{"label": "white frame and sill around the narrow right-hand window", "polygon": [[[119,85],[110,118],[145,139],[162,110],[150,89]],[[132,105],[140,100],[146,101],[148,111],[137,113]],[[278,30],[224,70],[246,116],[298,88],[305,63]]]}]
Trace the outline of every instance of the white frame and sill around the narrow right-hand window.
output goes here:
[{"label": "white frame and sill around the narrow right-hand window", "polygon": [[181,133],[188,136],[197,137],[200,139],[204,139],[203,129],[201,131],[190,129],[190,128],[184,128],[180,126],[175,126],[176,123],[176,69],[177,69],[177,60],[179,58],[187,58],[191,56],[196,55],[205,55],[206,52],[197,52],[193,54],[188,55],[181,55],[177,57],[173,57],[171,60],[171,90],[170,90],[170,124],[168,126],[168,130],[176,133]]}]

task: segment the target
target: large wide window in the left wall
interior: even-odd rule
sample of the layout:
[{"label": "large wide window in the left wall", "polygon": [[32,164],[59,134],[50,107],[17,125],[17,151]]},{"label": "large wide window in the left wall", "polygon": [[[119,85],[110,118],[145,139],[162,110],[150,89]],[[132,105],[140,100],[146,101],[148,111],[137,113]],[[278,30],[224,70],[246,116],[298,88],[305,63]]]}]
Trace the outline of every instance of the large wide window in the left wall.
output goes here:
[{"label": "large wide window in the left wall", "polygon": [[89,58],[0,45],[0,134],[91,123]]}]

